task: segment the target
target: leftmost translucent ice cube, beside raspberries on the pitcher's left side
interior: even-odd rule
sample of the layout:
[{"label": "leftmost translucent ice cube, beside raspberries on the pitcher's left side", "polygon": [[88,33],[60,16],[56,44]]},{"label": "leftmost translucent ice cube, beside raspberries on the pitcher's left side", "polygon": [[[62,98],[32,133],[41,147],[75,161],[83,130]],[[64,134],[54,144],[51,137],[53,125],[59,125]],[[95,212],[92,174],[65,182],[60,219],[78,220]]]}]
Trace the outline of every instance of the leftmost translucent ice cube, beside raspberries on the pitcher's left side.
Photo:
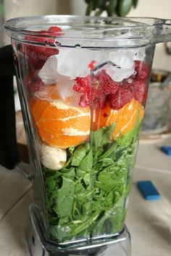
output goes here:
[{"label": "leftmost translucent ice cube, beside raspberries on the pitcher's left side", "polygon": [[58,80],[58,59],[57,55],[53,55],[49,57],[45,64],[43,65],[42,69],[39,71],[38,76],[43,80],[45,84],[56,83]]}]

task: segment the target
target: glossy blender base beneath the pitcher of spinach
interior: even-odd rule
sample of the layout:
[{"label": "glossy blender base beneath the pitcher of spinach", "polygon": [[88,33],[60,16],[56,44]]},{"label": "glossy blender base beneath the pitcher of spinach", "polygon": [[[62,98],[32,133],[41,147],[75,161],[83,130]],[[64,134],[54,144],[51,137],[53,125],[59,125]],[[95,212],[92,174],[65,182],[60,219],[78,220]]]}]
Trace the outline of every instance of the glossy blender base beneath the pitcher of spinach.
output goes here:
[{"label": "glossy blender base beneath the pitcher of spinach", "polygon": [[31,256],[130,256],[130,234],[128,229],[114,239],[106,239],[99,244],[84,244],[66,249],[46,242],[38,225],[34,206],[30,207],[28,226],[28,246]]}]

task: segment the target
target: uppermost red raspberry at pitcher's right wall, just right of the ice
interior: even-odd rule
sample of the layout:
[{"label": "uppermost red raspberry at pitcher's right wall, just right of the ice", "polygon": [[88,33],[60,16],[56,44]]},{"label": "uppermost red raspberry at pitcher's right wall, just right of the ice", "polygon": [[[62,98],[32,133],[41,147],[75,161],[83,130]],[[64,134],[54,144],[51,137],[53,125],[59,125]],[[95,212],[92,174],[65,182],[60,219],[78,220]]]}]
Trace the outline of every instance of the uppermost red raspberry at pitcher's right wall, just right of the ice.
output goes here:
[{"label": "uppermost red raspberry at pitcher's right wall, just right of the ice", "polygon": [[150,67],[145,62],[135,60],[136,80],[146,82],[149,79]]}]

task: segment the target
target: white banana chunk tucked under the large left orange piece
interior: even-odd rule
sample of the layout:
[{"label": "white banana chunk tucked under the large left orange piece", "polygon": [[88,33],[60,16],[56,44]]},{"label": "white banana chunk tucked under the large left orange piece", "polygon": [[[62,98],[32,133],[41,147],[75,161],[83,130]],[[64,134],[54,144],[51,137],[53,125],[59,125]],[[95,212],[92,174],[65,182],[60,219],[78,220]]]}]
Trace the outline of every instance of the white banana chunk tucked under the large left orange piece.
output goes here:
[{"label": "white banana chunk tucked under the large left orange piece", "polygon": [[67,162],[67,151],[46,144],[41,145],[42,164],[52,170],[60,170]]}]

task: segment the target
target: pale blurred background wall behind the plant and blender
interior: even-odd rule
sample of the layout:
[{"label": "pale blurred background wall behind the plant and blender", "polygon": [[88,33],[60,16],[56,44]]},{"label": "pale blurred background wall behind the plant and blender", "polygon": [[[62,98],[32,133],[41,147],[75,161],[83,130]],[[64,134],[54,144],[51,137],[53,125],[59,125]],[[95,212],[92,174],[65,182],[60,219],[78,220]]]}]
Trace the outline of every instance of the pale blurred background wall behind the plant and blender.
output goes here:
[{"label": "pale blurred background wall behind the plant and blender", "polygon": [[[85,11],[83,0],[4,0],[5,20],[27,15],[84,15]],[[171,0],[139,0],[128,16],[171,19]],[[164,44],[157,45],[154,67],[171,70],[171,55],[166,54]]]}]

